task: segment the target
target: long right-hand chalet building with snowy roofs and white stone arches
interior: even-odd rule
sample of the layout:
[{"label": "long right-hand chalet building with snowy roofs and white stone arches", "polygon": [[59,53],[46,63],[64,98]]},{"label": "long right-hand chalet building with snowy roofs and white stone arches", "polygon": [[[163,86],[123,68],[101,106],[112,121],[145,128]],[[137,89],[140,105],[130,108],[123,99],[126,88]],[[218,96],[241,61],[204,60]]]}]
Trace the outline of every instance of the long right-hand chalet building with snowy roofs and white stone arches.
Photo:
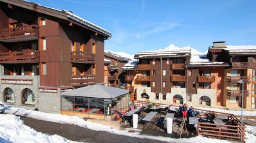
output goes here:
[{"label": "long right-hand chalet building with snowy roofs and white stone arches", "polygon": [[162,104],[256,109],[256,46],[213,42],[207,54],[195,49],[138,52],[122,69],[131,99]]}]

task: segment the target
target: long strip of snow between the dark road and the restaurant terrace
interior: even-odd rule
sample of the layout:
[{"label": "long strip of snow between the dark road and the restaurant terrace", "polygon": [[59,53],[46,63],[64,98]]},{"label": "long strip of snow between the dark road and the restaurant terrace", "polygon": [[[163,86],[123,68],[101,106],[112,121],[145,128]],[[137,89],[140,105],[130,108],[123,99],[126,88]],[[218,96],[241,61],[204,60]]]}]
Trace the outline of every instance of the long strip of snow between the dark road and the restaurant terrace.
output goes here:
[{"label": "long strip of snow between the dark road and the restaurant terrace", "polygon": [[[129,133],[127,130],[116,130],[114,128],[111,128],[109,126],[103,126],[101,124],[95,124],[88,121],[84,121],[83,119],[79,117],[74,116],[65,116],[61,114],[49,114],[44,112],[38,112],[33,110],[27,110],[22,108],[16,108],[16,107],[10,107],[10,106],[4,106],[3,109],[1,109],[2,112],[6,114],[16,114],[20,116],[27,116],[32,117],[34,119],[40,119],[44,121],[51,121],[55,123],[63,123],[63,124],[75,124],[77,126],[81,126],[84,128],[88,128],[90,130],[97,130],[97,131],[105,131],[110,133],[115,133],[118,135],[127,135],[129,137],[138,137],[143,139],[154,139],[154,140],[161,140],[166,142],[204,142],[204,143],[211,143],[211,142],[220,142],[220,143],[226,143],[227,140],[218,140],[218,139],[209,139],[207,137],[197,136],[192,137],[189,139],[172,139],[169,137],[162,137],[162,136],[151,136],[151,135],[140,135],[140,133]],[[1,111],[0,110],[0,111]],[[248,136],[251,136],[252,134],[248,133]]]}]

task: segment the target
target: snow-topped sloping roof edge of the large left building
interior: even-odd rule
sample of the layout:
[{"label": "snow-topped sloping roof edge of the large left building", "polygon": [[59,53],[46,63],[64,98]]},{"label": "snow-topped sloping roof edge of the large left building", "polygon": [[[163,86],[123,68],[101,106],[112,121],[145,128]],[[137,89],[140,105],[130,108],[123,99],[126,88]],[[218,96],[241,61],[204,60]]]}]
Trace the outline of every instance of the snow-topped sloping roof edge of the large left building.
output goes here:
[{"label": "snow-topped sloping roof edge of the large left building", "polygon": [[[32,3],[32,2],[24,1],[24,0],[22,2],[28,3],[28,4],[33,4],[32,6],[41,6],[42,8],[47,8],[47,9],[53,10],[54,14],[60,15],[61,18],[63,16],[67,17],[68,20],[72,20],[74,22],[77,22],[77,23],[79,23],[79,24],[81,24],[81,25],[83,25],[85,27],[88,27],[88,29],[95,30],[97,33],[103,34],[104,36],[106,36],[108,38],[111,38],[111,33],[109,31],[107,31],[106,29],[104,29],[104,28],[102,28],[100,26],[97,26],[96,24],[93,24],[92,22],[89,22],[88,20],[82,19],[81,17],[78,17],[77,15],[75,15],[74,13],[72,13],[70,11],[58,10],[56,8],[50,8],[50,7],[47,7],[47,6],[42,6],[40,4]],[[17,6],[21,6],[21,4],[17,4]],[[28,7],[26,6],[24,8],[28,8]],[[40,12],[44,13],[44,11],[40,11]],[[49,15],[49,12],[47,12],[45,14]],[[60,18],[60,17],[58,17],[58,18]],[[67,19],[65,19],[65,20],[67,20]]]}]

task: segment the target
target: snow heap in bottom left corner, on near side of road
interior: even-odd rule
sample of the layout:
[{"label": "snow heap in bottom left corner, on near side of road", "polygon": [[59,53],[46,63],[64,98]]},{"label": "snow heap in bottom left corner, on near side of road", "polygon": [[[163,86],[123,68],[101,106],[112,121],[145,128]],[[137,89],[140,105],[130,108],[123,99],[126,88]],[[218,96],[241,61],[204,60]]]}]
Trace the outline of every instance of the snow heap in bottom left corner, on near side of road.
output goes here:
[{"label": "snow heap in bottom left corner, on near side of road", "polygon": [[26,126],[19,117],[0,114],[0,142],[72,142],[59,135],[46,135]]}]

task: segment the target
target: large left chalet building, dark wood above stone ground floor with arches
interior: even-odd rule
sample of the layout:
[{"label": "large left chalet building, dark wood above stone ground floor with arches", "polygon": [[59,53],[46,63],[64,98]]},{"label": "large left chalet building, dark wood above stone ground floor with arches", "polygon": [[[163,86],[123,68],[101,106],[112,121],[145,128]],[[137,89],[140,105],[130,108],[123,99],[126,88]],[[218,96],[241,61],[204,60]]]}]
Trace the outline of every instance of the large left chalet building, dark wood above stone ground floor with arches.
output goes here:
[{"label": "large left chalet building, dark wood above stone ground floor with arches", "polygon": [[111,33],[71,11],[0,0],[1,100],[60,112],[60,93],[104,82]]}]

